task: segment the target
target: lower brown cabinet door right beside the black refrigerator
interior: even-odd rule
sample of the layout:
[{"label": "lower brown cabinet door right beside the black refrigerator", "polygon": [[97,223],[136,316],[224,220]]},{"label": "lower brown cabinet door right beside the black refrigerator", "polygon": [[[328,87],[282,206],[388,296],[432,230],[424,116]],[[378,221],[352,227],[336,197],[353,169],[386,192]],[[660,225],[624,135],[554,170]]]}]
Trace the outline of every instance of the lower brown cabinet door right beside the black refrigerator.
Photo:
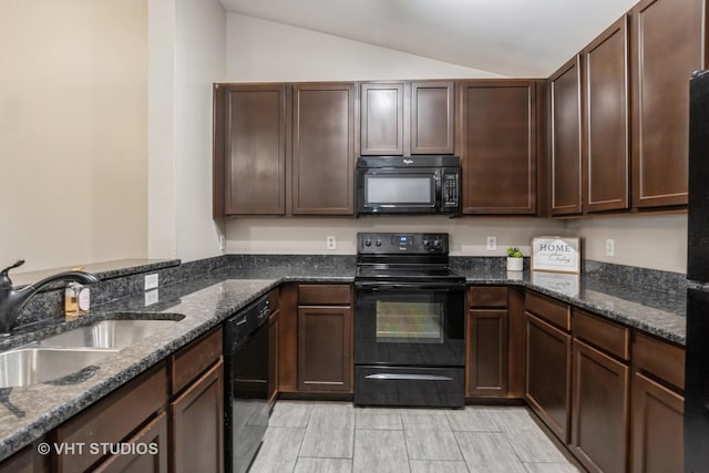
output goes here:
[{"label": "lower brown cabinet door right beside the black refrigerator", "polygon": [[633,376],[634,473],[684,470],[685,398],[636,372]]}]

